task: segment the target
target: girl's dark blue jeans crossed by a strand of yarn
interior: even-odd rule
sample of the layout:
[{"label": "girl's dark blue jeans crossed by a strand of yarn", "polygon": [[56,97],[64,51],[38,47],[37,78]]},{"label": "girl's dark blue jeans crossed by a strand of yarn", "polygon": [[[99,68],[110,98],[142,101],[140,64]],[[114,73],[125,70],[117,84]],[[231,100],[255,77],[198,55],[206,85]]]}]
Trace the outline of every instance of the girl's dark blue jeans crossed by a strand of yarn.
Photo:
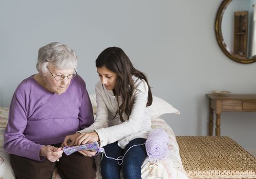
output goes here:
[{"label": "girl's dark blue jeans crossed by a strand of yarn", "polygon": [[[117,142],[106,145],[104,147],[106,156],[117,159],[118,156],[123,156],[124,153],[133,145],[143,144],[146,139],[137,138],[130,141],[125,149],[117,145]],[[103,179],[119,179],[120,170],[124,179],[139,179],[141,178],[141,165],[144,162],[147,153],[145,144],[132,147],[124,156],[122,165],[114,159],[108,159],[103,153],[103,158],[100,163],[101,175]],[[120,162],[119,162],[120,163]]]}]

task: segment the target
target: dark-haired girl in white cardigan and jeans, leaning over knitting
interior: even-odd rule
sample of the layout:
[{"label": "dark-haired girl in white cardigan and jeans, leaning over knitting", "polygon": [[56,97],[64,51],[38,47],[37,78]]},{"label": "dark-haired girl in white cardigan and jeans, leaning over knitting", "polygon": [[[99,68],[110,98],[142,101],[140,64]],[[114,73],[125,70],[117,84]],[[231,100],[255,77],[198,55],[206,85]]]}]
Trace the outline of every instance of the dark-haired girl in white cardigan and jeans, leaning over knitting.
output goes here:
[{"label": "dark-haired girl in white cardigan and jeans, leaning over knitting", "polygon": [[[119,165],[103,154],[103,178],[120,178],[120,170],[123,178],[141,178],[141,165],[147,155],[145,141],[151,130],[147,106],[152,104],[152,93],[147,78],[117,47],[101,52],[96,67],[100,78],[95,86],[96,120],[90,127],[66,139],[71,145],[99,141],[106,156],[115,159],[124,156]],[[67,146],[67,141],[63,145]],[[92,151],[79,152],[86,156],[95,154]]]}]

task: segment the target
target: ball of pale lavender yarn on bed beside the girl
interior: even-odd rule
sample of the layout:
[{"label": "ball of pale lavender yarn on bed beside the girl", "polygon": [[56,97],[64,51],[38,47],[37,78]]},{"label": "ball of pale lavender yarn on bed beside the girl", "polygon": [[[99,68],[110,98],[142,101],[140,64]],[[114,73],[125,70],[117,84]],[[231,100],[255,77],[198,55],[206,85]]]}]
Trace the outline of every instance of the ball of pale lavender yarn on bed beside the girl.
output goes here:
[{"label": "ball of pale lavender yarn on bed beside the girl", "polygon": [[150,160],[163,160],[168,150],[168,134],[164,129],[153,129],[148,135],[146,152]]}]

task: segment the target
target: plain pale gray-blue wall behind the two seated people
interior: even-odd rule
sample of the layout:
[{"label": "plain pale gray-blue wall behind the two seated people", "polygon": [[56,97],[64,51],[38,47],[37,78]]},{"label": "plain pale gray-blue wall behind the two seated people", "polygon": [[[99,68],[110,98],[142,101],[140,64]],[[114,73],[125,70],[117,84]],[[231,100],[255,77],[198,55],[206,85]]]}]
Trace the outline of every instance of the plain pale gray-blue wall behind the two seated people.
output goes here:
[{"label": "plain pale gray-blue wall behind the two seated people", "polygon": [[[181,115],[164,115],[176,135],[207,135],[214,89],[256,94],[256,63],[230,60],[218,46],[214,24],[221,0],[1,1],[0,102],[9,106],[20,81],[37,73],[38,49],[60,41],[75,49],[89,93],[98,81],[95,59],[121,47],[147,73],[155,96]],[[256,113],[223,113],[221,132],[256,148]]]}]

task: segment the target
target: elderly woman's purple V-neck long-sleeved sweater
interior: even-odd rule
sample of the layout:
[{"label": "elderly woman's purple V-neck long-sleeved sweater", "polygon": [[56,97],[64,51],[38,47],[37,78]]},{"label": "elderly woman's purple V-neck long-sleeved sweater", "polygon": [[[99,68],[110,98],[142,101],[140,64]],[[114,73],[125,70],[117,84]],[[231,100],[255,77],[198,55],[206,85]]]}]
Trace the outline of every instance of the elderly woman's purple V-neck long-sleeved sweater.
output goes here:
[{"label": "elderly woman's purple V-neck long-sleeved sweater", "polygon": [[42,145],[62,143],[67,135],[93,122],[92,104],[80,76],[60,95],[49,92],[31,76],[18,85],[12,97],[4,148],[8,153],[42,161]]}]

